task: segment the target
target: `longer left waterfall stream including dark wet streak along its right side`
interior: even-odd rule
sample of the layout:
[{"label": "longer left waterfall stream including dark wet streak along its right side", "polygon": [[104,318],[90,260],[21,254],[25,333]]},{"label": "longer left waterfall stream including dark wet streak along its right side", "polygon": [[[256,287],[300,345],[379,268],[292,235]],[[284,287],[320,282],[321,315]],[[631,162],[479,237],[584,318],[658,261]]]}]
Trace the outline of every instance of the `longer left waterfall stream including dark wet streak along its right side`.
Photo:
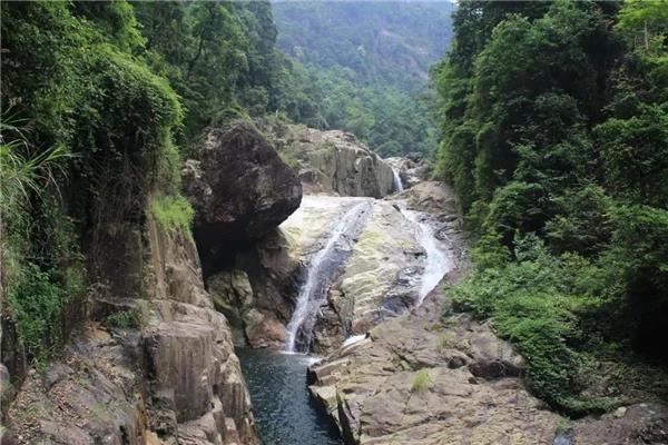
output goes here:
[{"label": "longer left waterfall stream including dark wet streak along its right side", "polygon": [[366,199],[352,205],[337,219],[324,247],[311,258],[306,281],[299,290],[295,312],[287,325],[286,352],[295,352],[299,335],[303,336],[299,344],[306,349],[308,348],[317,310],[326,297],[330,279],[345,259],[346,250],[350,254],[352,240],[361,228],[370,207],[371,201]]}]

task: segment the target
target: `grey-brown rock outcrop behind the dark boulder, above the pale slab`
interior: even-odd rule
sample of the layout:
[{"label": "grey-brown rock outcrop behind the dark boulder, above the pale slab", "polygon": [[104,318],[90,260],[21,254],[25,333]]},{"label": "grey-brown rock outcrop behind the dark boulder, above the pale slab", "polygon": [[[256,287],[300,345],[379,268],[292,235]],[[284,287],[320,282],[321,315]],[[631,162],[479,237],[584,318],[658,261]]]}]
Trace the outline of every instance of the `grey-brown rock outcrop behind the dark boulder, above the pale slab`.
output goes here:
[{"label": "grey-brown rock outcrop behind the dark boulder, above the pale slab", "polygon": [[354,135],[259,123],[279,151],[295,159],[305,192],[382,198],[394,191],[392,168]]}]

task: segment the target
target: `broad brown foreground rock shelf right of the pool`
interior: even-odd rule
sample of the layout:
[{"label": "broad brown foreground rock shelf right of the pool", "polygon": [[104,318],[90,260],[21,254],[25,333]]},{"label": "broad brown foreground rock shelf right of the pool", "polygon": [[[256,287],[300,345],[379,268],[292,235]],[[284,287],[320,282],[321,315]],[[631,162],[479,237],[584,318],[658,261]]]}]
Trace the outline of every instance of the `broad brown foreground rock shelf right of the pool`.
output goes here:
[{"label": "broad brown foreground rock shelf right of the pool", "polygon": [[564,422],[528,392],[524,360],[489,323],[440,314],[431,304],[384,322],[310,369],[347,445],[666,443],[662,405]]}]

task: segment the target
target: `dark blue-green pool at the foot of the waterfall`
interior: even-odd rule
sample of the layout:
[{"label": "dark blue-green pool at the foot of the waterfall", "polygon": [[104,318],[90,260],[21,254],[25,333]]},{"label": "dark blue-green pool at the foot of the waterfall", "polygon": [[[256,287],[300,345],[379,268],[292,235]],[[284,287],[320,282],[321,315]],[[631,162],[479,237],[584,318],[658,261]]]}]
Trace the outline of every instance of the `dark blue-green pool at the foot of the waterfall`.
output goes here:
[{"label": "dark blue-green pool at the foot of the waterfall", "polygon": [[265,445],[341,445],[336,427],[313,400],[302,354],[237,348],[257,432]]}]

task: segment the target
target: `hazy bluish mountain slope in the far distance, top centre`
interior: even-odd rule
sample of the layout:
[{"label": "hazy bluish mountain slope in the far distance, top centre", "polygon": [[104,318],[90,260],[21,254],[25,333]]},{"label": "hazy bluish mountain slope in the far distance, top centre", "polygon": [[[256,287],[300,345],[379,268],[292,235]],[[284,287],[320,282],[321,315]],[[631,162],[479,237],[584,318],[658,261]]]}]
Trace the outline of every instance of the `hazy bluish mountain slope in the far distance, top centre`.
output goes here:
[{"label": "hazy bluish mountain slope in the far distance, top centre", "polygon": [[[455,6],[448,1],[275,1],[281,49],[303,63],[343,67],[357,81],[424,85],[443,57]],[[415,85],[412,85],[414,87]]]}]

